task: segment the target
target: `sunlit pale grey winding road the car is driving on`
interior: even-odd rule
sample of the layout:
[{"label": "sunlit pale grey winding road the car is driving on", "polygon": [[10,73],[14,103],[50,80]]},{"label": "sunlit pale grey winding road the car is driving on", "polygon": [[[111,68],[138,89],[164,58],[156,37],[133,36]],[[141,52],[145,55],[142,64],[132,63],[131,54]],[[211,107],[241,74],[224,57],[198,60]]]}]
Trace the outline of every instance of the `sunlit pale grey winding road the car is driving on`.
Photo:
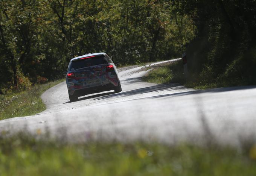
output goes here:
[{"label": "sunlit pale grey winding road the car is driving on", "polygon": [[214,141],[239,146],[241,141],[256,141],[256,86],[201,91],[176,83],[142,82],[148,66],[120,69],[121,93],[91,94],[73,103],[62,82],[42,95],[45,111],[2,120],[0,132],[27,130],[37,135],[40,130],[72,142]]}]

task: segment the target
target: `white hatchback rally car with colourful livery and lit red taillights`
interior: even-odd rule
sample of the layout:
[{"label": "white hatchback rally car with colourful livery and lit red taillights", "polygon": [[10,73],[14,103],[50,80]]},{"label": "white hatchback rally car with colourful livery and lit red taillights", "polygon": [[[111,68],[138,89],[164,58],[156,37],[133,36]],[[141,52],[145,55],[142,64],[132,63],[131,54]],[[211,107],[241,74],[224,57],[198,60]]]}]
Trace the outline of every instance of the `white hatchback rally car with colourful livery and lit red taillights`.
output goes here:
[{"label": "white hatchback rally car with colourful livery and lit red taillights", "polygon": [[116,66],[106,53],[89,53],[71,59],[66,83],[70,102],[87,94],[122,91]]}]

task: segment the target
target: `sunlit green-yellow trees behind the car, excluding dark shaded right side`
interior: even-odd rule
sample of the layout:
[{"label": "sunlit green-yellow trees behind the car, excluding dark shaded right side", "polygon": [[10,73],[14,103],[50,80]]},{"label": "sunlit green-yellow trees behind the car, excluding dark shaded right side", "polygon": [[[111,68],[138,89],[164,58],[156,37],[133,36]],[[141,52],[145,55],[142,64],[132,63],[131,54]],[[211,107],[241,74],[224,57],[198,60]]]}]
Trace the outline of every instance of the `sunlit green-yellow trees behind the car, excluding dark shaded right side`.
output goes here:
[{"label": "sunlit green-yellow trees behind the car, excluding dark shaded right side", "polygon": [[19,69],[33,83],[60,78],[71,58],[88,52],[122,65],[179,56],[195,36],[180,9],[148,0],[0,1],[0,89],[19,86]]}]

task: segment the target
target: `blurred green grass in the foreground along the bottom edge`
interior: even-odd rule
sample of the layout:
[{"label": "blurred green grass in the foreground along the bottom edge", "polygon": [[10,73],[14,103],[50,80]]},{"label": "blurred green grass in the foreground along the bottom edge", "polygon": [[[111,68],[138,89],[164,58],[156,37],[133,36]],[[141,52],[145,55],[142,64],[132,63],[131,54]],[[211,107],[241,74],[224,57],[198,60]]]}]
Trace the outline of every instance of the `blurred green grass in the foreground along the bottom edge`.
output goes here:
[{"label": "blurred green grass in the foreground along the bottom edge", "polygon": [[[1,136],[5,136],[3,132]],[[256,151],[143,142],[65,144],[19,134],[0,137],[0,173],[1,176],[252,176],[256,173],[253,152]]]}]

